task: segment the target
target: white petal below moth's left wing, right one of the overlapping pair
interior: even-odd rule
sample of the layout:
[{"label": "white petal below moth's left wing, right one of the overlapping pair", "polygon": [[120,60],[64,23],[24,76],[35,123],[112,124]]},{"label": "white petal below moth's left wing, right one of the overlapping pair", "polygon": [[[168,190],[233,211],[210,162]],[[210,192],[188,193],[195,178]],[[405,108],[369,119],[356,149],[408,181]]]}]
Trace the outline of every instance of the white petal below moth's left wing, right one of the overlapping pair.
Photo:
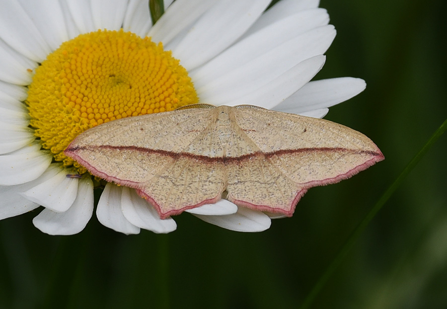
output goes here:
[{"label": "white petal below moth's left wing, right one of the overlapping pair", "polygon": [[155,233],[169,233],[177,228],[172,218],[161,220],[156,210],[138,196],[134,189],[123,187],[121,207],[124,217],[142,229]]}]

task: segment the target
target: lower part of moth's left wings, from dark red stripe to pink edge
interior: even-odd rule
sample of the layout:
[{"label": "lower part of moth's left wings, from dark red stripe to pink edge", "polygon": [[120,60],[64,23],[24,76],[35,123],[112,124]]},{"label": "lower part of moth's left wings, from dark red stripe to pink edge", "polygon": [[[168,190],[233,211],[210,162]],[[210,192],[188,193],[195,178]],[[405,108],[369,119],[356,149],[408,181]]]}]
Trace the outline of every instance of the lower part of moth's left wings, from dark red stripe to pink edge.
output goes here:
[{"label": "lower part of moth's left wings, from dark red stripe to pink edge", "polygon": [[179,154],[82,146],[69,153],[91,174],[134,188],[165,219],[212,204],[224,191],[224,166]]}]

